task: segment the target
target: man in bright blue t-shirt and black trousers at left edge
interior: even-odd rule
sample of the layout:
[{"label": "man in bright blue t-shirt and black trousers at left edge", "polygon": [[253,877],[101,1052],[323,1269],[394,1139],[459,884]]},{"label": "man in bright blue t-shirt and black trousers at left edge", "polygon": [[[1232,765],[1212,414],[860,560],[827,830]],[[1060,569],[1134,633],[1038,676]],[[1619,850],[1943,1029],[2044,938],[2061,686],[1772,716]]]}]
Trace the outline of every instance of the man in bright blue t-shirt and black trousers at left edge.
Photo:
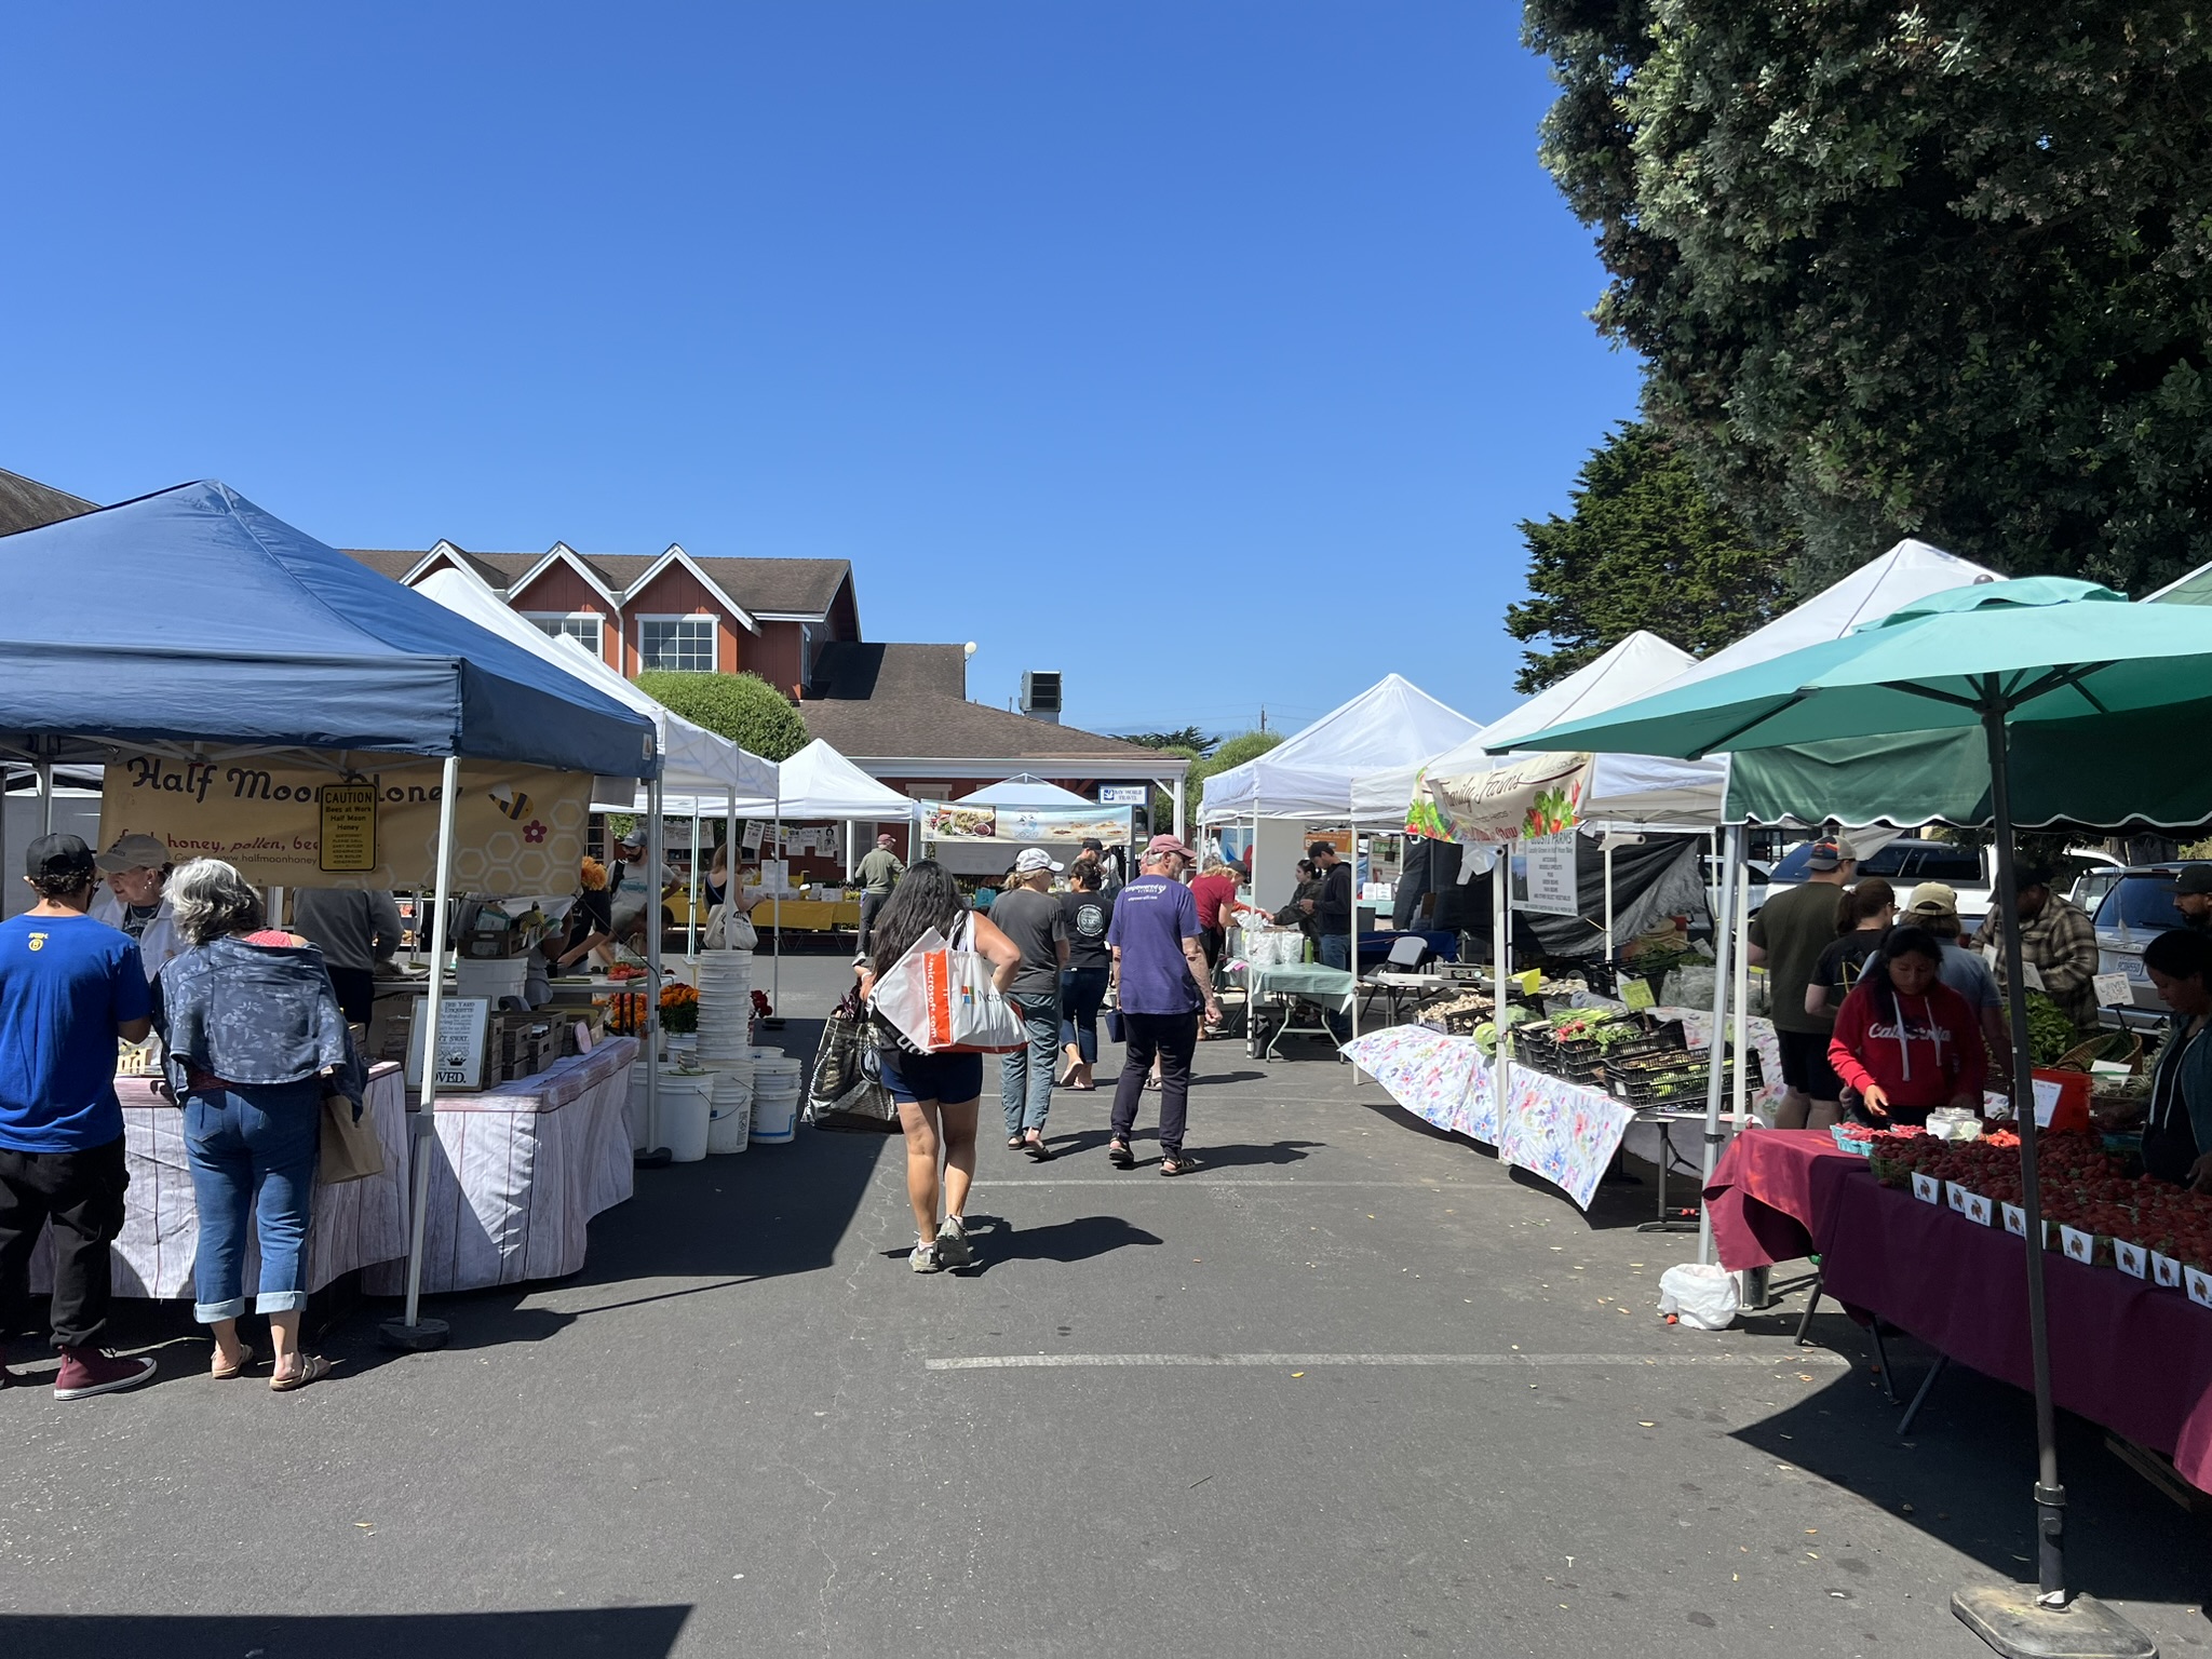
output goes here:
[{"label": "man in bright blue t-shirt and black trousers at left edge", "polygon": [[[24,860],[38,905],[0,922],[0,1336],[29,1301],[31,1248],[53,1223],[55,1400],[135,1389],[150,1358],[124,1360],[108,1325],[108,1245],[124,1230],[124,1108],[115,1040],[153,1031],[131,936],[86,911],[97,869],[77,836],[40,836]],[[0,1387],[20,1383],[0,1367]]]}]

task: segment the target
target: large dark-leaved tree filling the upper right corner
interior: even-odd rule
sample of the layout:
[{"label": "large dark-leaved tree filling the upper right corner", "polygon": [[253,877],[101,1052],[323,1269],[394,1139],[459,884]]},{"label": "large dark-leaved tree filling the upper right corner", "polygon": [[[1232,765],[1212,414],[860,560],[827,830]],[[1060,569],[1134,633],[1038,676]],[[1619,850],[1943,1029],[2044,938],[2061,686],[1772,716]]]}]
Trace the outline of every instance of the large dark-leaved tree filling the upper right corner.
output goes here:
[{"label": "large dark-leaved tree filling the upper right corner", "polygon": [[1805,582],[1900,533],[2135,593],[2212,557],[2212,13],[1528,0],[1526,38],[1599,327]]}]

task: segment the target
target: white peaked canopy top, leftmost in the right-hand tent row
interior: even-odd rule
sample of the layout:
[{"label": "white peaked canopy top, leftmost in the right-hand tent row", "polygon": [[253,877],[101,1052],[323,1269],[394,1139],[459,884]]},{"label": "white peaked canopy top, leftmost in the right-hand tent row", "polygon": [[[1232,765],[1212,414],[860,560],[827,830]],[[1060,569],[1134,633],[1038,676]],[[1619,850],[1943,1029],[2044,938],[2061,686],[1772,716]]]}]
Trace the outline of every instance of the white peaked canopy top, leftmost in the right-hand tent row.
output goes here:
[{"label": "white peaked canopy top, leftmost in the right-hand tent row", "polygon": [[[1206,779],[1199,823],[1343,821],[1352,812],[1352,790],[1363,774],[1418,768],[1431,754],[1480,730],[1413,681],[1385,675],[1265,754]],[[1396,807],[1405,810],[1402,796]]]}]

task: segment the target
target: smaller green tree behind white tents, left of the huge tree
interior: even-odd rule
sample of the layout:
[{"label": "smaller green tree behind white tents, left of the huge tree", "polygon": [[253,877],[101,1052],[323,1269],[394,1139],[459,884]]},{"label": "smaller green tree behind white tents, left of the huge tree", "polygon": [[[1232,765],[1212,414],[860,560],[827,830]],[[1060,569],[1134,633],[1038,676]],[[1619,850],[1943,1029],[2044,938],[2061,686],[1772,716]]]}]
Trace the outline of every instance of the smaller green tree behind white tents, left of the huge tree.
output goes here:
[{"label": "smaller green tree behind white tents, left of the huge tree", "polygon": [[1506,606],[1513,679],[1544,690],[1650,628],[1703,657],[1774,615],[1787,557],[1756,546],[1672,442],[1624,422],[1575,476],[1573,513],[1522,520],[1528,599]]}]

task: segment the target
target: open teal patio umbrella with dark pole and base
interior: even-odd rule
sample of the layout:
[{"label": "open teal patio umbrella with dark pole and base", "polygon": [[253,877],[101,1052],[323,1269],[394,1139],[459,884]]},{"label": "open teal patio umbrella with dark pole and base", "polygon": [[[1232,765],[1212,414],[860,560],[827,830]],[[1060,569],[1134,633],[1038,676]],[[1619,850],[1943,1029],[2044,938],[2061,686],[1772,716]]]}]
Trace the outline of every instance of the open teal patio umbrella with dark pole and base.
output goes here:
[{"label": "open teal patio umbrella with dark pole and base", "polygon": [[[2128,604],[2088,582],[2026,577],[1936,593],[1843,639],[1509,745],[1677,759],[1734,752],[1747,759],[1745,790],[1763,796],[1754,816],[1787,812],[1809,823],[1947,816],[1995,827],[1995,914],[2004,918],[2013,1031],[2011,1097],[2020,1104],[2028,1212],[2039,1590],[2033,1599],[2011,1590],[1960,1590],[1953,1608],[2000,1652],[2154,1652],[2101,1604],[2068,1597],[2064,1588],[2066,1491],[2051,1405],[2013,832],[2020,823],[2124,827],[2212,818],[2212,776],[2177,763],[2179,739],[2201,730],[2194,719],[2205,712],[2212,712],[2212,617],[2199,606]],[[1732,781],[1730,816],[1743,812]]]}]

